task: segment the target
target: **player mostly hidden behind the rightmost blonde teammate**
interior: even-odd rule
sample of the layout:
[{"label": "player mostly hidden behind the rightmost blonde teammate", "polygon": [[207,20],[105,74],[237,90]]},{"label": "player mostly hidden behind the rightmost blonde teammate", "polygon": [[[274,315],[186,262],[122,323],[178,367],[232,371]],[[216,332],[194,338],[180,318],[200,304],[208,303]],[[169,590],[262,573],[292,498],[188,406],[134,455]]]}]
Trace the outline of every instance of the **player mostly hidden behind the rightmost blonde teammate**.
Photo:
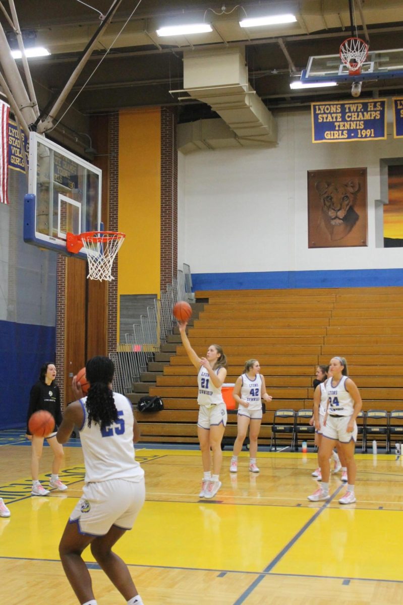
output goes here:
[{"label": "player mostly hidden behind the rightmost blonde teammate", "polygon": [[[322,433],[323,433],[323,421],[326,414],[327,409],[327,392],[325,387],[325,382],[329,373],[329,365],[318,365],[316,368],[316,378],[313,381],[313,387],[315,387],[315,391],[313,393],[313,407],[319,408],[319,428],[315,427],[315,445],[319,447],[322,442]],[[315,416],[312,416],[310,419],[310,425],[314,424]],[[341,471],[341,480],[347,481],[347,468],[346,463],[341,451],[341,447],[339,443],[336,443],[336,451],[332,451],[332,460],[334,463],[333,473],[338,473]],[[315,477],[317,481],[322,480],[322,474],[320,466],[315,469],[312,473],[312,477]]]}]

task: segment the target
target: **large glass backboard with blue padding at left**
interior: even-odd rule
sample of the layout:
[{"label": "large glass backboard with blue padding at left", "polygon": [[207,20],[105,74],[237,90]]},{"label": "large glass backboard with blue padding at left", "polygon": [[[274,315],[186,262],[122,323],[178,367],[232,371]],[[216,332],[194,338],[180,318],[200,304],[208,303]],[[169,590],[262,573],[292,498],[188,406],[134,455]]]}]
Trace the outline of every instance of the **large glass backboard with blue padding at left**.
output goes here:
[{"label": "large glass backboard with blue padding at left", "polygon": [[[24,241],[69,255],[67,233],[100,230],[102,171],[78,155],[30,132]],[[79,257],[87,258],[84,248]]]}]

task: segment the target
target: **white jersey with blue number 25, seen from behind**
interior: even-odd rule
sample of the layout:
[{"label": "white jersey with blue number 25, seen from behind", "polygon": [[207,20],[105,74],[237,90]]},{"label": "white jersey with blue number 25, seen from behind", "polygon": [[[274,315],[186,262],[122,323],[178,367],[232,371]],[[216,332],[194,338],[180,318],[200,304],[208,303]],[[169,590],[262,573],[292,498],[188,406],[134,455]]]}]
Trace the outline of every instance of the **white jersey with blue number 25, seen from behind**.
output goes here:
[{"label": "white jersey with blue number 25, seen from behind", "polygon": [[113,393],[117,422],[100,430],[99,424],[91,422],[85,407],[87,397],[80,399],[84,411],[84,422],[80,428],[80,439],[85,462],[85,483],[126,479],[139,482],[144,471],[134,459],[133,410],[131,403],[120,393]]}]

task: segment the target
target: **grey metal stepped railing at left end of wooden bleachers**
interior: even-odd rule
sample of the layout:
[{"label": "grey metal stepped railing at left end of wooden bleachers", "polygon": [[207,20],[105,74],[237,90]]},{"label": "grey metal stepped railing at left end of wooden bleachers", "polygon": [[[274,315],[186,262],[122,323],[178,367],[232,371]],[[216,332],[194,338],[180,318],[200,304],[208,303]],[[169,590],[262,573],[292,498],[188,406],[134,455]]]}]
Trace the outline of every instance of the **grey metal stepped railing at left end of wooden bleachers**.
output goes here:
[{"label": "grey metal stepped railing at left end of wooden bleachers", "polygon": [[110,354],[115,365],[113,388],[118,393],[131,393],[133,382],[140,381],[140,375],[148,368],[148,363],[160,352],[177,324],[172,308],[178,301],[192,302],[192,275],[188,264],[178,269],[177,276],[154,299],[154,307],[147,307],[147,315],[140,316],[140,323],[133,324],[133,332],[125,334],[125,342],[117,345],[116,352]]}]

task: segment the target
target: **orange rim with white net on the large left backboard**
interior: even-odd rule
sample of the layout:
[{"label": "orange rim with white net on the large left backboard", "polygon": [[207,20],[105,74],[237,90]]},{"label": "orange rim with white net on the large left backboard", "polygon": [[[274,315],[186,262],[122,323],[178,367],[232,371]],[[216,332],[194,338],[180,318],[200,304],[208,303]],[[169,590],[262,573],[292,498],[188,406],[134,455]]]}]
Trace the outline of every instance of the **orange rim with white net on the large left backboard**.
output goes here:
[{"label": "orange rim with white net on the large left backboard", "polygon": [[112,281],[112,265],[125,239],[124,233],[117,231],[88,231],[74,235],[67,234],[66,248],[76,254],[82,247],[87,253],[88,278],[90,280]]}]

